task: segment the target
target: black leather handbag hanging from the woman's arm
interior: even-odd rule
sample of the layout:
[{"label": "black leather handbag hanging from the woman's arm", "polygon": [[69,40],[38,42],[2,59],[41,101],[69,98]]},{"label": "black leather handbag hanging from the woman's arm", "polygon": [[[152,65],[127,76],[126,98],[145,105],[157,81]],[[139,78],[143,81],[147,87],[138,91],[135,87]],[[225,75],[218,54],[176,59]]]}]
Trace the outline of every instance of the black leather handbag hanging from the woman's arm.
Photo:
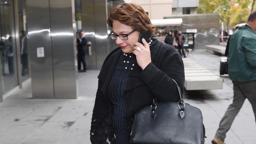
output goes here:
[{"label": "black leather handbag hanging from the woman's arm", "polygon": [[[174,79],[173,79],[174,81]],[[174,81],[176,83],[176,81]],[[161,102],[139,109],[134,118],[131,144],[204,144],[202,113],[180,101]]]}]

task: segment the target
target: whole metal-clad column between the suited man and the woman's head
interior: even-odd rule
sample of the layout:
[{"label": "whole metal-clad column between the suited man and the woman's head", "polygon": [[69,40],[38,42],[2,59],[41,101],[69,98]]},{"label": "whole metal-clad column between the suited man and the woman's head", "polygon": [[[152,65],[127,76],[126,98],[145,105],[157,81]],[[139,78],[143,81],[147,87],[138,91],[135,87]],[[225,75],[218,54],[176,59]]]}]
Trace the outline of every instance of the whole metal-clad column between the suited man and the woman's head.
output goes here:
[{"label": "whole metal-clad column between the suited man and the woman's head", "polygon": [[82,29],[92,48],[86,56],[89,69],[100,69],[110,52],[107,18],[107,0],[82,0]]}]

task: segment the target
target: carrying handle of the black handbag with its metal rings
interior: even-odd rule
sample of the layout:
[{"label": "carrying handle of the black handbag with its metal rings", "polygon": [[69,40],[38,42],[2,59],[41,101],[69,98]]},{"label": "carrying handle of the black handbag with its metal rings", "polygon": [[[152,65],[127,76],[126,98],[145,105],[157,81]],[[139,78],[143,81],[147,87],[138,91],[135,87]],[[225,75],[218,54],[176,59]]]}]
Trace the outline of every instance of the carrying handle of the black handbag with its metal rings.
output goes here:
[{"label": "carrying handle of the black handbag with its metal rings", "polygon": [[[180,90],[180,87],[178,86],[178,83],[172,79],[174,81],[174,83],[176,84],[176,87],[178,89],[178,92],[179,92],[179,96],[180,96],[180,100],[179,100],[179,110],[180,110],[180,113],[179,113],[179,117],[180,119],[184,118],[185,116],[185,103],[184,103],[184,100],[183,100],[183,97],[182,97],[182,94],[181,94],[181,90]],[[183,107],[180,107],[180,105],[183,105]],[[150,109],[151,109],[151,118],[154,119],[156,117],[156,97],[153,98],[153,104],[151,105]]]}]

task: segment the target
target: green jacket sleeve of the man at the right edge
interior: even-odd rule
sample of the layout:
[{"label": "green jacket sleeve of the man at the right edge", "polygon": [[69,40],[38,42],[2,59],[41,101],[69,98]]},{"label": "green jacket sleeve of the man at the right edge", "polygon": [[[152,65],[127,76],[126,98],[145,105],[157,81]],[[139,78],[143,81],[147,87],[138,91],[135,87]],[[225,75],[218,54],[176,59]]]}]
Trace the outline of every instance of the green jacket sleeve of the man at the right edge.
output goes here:
[{"label": "green jacket sleeve of the man at the right edge", "polygon": [[245,37],[242,47],[245,50],[246,61],[253,67],[256,67],[256,39]]}]

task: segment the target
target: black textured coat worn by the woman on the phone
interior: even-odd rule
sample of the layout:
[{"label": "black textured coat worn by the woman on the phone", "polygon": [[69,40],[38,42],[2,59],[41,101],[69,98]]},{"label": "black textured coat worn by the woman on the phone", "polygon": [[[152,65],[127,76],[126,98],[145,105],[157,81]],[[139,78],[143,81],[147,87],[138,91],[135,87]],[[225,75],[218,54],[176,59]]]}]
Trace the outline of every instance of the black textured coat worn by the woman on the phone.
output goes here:
[{"label": "black textured coat worn by the woman on the phone", "polygon": [[[156,97],[159,102],[178,102],[178,90],[172,79],[178,83],[182,92],[184,90],[185,76],[182,58],[173,46],[163,44],[154,38],[151,39],[154,40],[150,46],[152,63],[144,70],[136,63],[129,74],[131,78],[124,91],[128,140],[134,114],[139,108],[150,105],[153,97]],[[120,47],[113,50],[106,57],[98,76],[98,90],[91,121],[92,144],[103,144],[107,138],[112,142],[111,144],[115,144],[115,128],[112,125],[113,105],[108,98],[108,84],[121,53]]]}]

